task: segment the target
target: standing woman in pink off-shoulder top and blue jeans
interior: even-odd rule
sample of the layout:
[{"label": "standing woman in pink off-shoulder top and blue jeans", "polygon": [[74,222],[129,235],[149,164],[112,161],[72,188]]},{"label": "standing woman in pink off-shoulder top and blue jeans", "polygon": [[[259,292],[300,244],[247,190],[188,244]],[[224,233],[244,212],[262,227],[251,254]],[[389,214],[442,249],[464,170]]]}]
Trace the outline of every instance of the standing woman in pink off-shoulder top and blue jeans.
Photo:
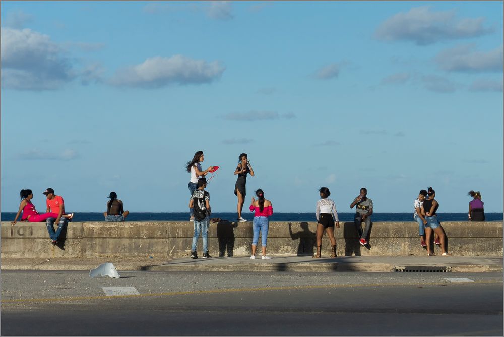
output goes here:
[{"label": "standing woman in pink off-shoulder top and blue jeans", "polygon": [[259,241],[259,232],[261,231],[261,246],[263,248],[263,256],[261,259],[269,260],[271,257],[266,255],[266,238],[268,237],[269,227],[268,217],[273,215],[273,206],[271,205],[271,201],[264,198],[263,190],[258,189],[256,195],[258,199],[256,200],[253,197],[250,203],[250,211],[256,212],[252,227],[254,238],[252,239],[252,255],[250,255],[250,259],[254,260],[256,258],[256,247]]}]

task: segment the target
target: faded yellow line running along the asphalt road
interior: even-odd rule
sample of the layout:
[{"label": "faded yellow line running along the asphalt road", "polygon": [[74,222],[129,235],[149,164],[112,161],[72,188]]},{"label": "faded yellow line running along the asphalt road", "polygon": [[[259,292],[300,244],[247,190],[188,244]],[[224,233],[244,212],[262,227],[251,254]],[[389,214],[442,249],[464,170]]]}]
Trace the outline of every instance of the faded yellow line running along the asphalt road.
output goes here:
[{"label": "faded yellow line running along the asphalt road", "polygon": [[[495,281],[474,281],[474,284],[492,284],[502,283],[501,280]],[[139,295],[117,295],[117,296],[78,296],[69,298],[31,298],[31,299],[13,299],[2,300],[2,304],[9,303],[26,303],[26,302],[67,302],[80,300],[102,300],[115,298],[135,298],[149,296],[174,296],[174,295],[194,295],[194,294],[217,294],[217,293],[236,293],[236,292],[256,292],[268,290],[300,290],[300,289],[324,289],[324,288],[352,288],[352,287],[384,287],[384,286],[439,286],[451,284],[450,282],[435,282],[435,283],[368,283],[368,284],[340,284],[340,285],[309,285],[309,286],[284,286],[284,287],[260,287],[260,288],[230,288],[230,289],[214,289],[214,290],[196,290],[196,291],[180,291],[180,292],[165,292],[165,293],[149,293]],[[460,285],[461,283],[457,283]]]}]

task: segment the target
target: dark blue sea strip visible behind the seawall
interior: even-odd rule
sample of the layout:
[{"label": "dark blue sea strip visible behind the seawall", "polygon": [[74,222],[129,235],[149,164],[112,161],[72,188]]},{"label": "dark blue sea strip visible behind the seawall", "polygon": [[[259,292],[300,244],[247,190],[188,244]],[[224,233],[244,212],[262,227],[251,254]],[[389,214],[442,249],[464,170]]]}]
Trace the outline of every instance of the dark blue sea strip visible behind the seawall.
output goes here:
[{"label": "dark blue sea strip visible behind the seawall", "polygon": [[[343,222],[353,221],[355,213],[338,213],[339,220]],[[2,213],[2,221],[12,221],[16,213]],[[243,218],[253,220],[254,213],[243,212]],[[212,213],[211,217],[220,217],[223,220],[236,220],[236,213]],[[486,221],[502,221],[502,213],[485,213]],[[467,221],[467,213],[438,213],[439,221]],[[186,221],[189,214],[184,213],[130,213],[129,221]],[[412,213],[374,213],[374,222],[402,222],[413,221]],[[78,213],[74,215],[74,221],[104,221],[103,213]],[[316,221],[315,213],[275,213],[270,221]]]}]

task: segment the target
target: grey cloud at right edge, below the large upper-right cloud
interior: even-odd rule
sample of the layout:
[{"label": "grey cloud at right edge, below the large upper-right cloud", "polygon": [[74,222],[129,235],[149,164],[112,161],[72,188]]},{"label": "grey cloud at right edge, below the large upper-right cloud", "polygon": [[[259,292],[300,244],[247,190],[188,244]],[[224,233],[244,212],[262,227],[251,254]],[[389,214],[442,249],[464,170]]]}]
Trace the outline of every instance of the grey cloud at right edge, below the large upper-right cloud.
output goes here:
[{"label": "grey cloud at right edge, below the large upper-right cloud", "polygon": [[454,72],[501,72],[502,46],[489,51],[474,51],[473,44],[456,46],[435,58],[439,67]]}]

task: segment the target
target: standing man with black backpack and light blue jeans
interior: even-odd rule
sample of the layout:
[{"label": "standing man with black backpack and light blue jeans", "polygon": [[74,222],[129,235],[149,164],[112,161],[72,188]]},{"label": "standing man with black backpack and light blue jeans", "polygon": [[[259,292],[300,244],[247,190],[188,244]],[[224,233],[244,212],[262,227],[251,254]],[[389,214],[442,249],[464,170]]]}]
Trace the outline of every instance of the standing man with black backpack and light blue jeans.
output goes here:
[{"label": "standing man with black backpack and light blue jeans", "polygon": [[198,238],[203,240],[203,258],[209,259],[212,256],[208,254],[208,226],[210,222],[210,193],[205,191],[207,187],[207,179],[198,179],[198,188],[193,192],[193,196],[189,201],[189,208],[193,209],[194,213],[194,235],[193,245],[191,246],[191,258],[197,259],[196,247]]}]

